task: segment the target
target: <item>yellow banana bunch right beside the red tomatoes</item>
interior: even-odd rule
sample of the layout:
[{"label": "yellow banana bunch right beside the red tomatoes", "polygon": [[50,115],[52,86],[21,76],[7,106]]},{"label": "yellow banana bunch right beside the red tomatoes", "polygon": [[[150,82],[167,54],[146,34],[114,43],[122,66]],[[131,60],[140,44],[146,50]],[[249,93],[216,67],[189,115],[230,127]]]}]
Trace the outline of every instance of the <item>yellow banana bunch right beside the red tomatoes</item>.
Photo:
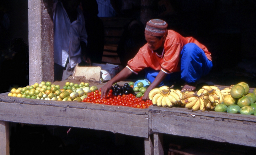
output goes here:
[{"label": "yellow banana bunch right beside the red tomatoes", "polygon": [[173,107],[181,104],[182,92],[180,90],[173,90],[167,86],[154,88],[149,92],[149,99],[152,100],[153,105],[158,107]]}]

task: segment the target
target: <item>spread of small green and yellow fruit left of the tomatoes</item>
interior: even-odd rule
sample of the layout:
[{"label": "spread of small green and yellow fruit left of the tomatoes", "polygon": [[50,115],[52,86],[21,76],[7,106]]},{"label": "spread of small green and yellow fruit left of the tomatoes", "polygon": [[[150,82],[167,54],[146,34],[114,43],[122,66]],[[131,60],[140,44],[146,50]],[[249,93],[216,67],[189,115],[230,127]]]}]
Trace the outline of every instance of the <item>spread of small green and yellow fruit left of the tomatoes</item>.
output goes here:
[{"label": "spread of small green and yellow fruit left of the tomatoes", "polygon": [[80,84],[66,82],[63,89],[60,89],[59,85],[42,81],[40,84],[35,83],[23,88],[12,88],[8,96],[52,101],[82,101],[87,97],[87,93],[94,92],[97,89],[96,86],[90,87],[89,83],[84,82]]}]

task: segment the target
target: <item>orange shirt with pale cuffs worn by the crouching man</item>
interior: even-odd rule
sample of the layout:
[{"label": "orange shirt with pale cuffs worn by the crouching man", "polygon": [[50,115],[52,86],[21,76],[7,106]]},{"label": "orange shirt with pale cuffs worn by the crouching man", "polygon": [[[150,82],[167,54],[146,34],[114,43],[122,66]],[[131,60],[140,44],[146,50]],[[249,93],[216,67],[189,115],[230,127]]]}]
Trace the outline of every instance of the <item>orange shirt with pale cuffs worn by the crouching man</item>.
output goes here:
[{"label": "orange shirt with pale cuffs worn by the crouching man", "polygon": [[168,30],[162,56],[158,56],[156,52],[151,51],[148,48],[148,44],[146,44],[140,48],[133,59],[128,61],[127,67],[135,74],[147,67],[154,70],[162,70],[165,73],[180,71],[180,52],[183,46],[190,42],[200,47],[207,58],[212,61],[211,53],[196,39],[193,37],[183,37],[173,30]]}]

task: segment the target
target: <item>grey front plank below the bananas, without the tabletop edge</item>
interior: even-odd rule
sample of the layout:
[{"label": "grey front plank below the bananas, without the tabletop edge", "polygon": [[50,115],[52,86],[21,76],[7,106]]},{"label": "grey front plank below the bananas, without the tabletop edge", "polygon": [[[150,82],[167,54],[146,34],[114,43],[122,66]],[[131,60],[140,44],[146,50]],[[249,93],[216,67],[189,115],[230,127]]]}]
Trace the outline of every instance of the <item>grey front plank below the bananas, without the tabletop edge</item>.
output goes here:
[{"label": "grey front plank below the bananas, without the tabletop edge", "polygon": [[[221,117],[217,117],[221,118]],[[242,124],[228,119],[201,119],[194,117],[152,113],[152,131],[177,136],[194,137],[256,146],[255,125]]]}]

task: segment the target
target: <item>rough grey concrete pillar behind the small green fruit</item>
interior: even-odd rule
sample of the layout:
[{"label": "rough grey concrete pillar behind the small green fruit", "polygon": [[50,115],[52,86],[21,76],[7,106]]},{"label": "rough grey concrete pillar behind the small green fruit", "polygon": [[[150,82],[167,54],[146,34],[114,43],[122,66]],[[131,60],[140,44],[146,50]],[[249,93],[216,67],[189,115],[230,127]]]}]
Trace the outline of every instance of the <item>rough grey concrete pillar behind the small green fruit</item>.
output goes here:
[{"label": "rough grey concrete pillar behind the small green fruit", "polygon": [[28,0],[28,46],[29,84],[53,82],[53,22],[43,0]]}]

